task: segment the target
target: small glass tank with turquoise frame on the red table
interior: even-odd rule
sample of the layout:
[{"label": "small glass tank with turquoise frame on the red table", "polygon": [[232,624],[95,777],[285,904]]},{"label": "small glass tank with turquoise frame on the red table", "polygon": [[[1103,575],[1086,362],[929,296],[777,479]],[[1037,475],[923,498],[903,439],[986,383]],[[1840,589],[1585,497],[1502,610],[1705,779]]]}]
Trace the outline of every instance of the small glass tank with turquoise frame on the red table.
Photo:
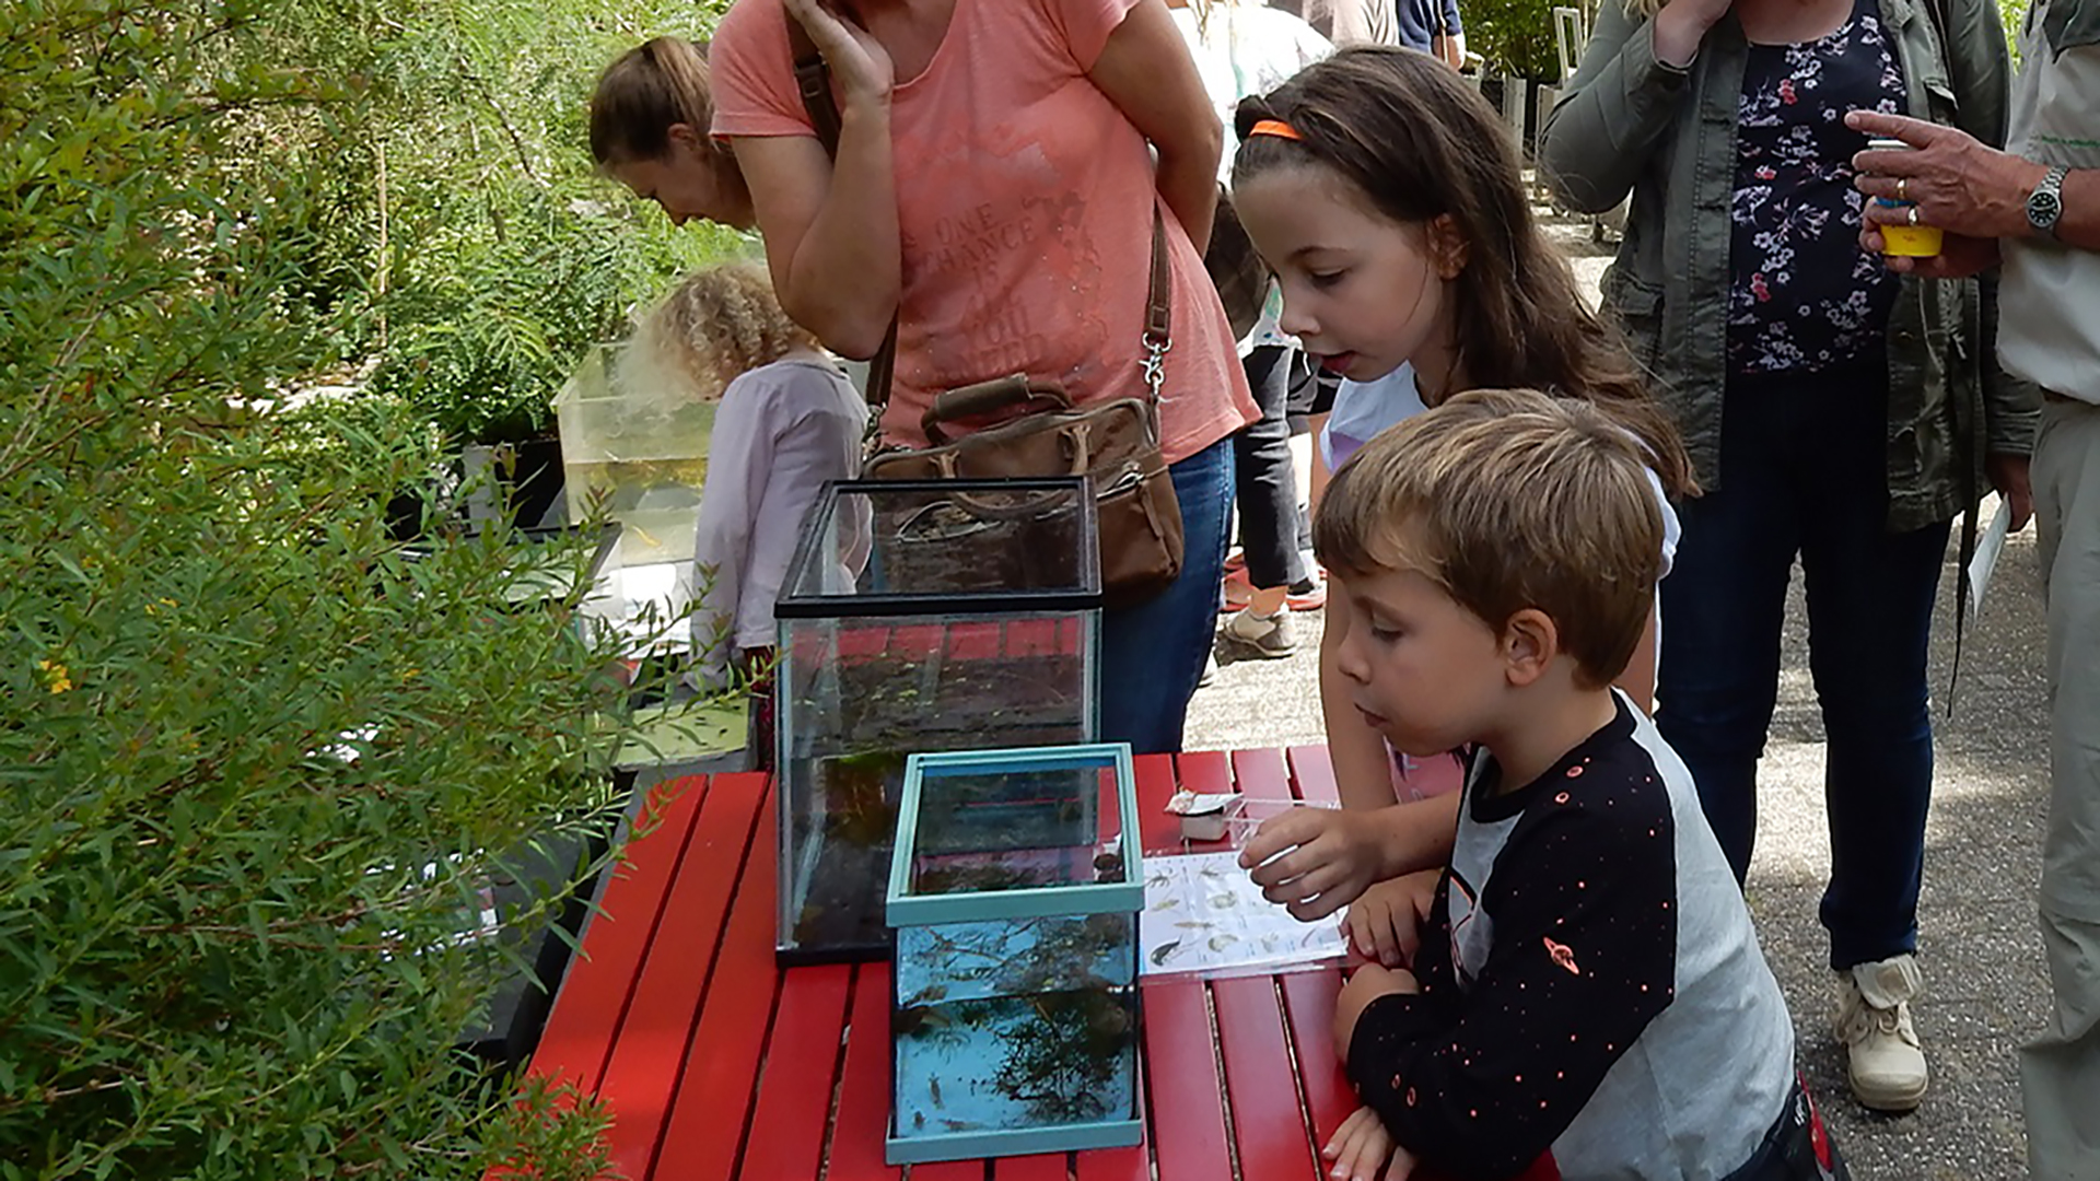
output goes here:
[{"label": "small glass tank with turquoise frame on the red table", "polygon": [[884,904],[890,1164],[1140,1141],[1128,744],[914,754]]}]

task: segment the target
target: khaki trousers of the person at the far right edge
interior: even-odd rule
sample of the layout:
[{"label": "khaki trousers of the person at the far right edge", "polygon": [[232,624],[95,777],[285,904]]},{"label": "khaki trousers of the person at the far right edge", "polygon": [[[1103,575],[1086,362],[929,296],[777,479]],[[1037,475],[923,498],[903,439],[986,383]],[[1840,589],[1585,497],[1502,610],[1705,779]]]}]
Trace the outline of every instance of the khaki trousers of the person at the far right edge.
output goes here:
[{"label": "khaki trousers of the person at the far right edge", "polygon": [[2050,401],[2035,437],[2050,620],[2050,826],[2041,944],[2054,1009],[2020,1049],[2031,1177],[2100,1177],[2100,408]]}]

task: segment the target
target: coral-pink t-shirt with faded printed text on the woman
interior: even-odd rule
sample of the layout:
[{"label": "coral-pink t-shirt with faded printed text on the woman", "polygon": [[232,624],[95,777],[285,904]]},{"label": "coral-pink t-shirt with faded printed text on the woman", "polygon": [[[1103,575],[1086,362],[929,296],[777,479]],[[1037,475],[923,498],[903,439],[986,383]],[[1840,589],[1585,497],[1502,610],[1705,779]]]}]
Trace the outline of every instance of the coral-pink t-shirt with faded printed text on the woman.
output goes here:
[{"label": "coral-pink t-shirt with faded printed text on the woman", "polygon": [[[1157,198],[1144,137],[1086,71],[1136,0],[956,0],[924,74],[890,99],[903,307],[884,437],[926,446],[943,389],[1014,372],[1075,403],[1142,397],[1153,208],[1168,227],[1174,347],[1168,462],[1260,412],[1203,261]],[[714,134],[813,134],[781,0],[737,0],[714,34]]]}]

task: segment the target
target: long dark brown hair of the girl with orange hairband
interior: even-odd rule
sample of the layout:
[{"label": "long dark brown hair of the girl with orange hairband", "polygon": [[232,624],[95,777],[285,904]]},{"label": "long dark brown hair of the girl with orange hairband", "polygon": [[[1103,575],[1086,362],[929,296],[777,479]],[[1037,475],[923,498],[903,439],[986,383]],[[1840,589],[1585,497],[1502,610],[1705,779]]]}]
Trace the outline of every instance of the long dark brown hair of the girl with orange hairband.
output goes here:
[{"label": "long dark brown hair of the girl with orange hairband", "polygon": [[[1262,120],[1298,139],[1250,134]],[[1457,71],[1407,48],[1346,48],[1241,101],[1233,122],[1235,187],[1321,166],[1394,223],[1449,216],[1466,242],[1453,319],[1468,387],[1592,401],[1646,443],[1672,496],[1697,492],[1676,422],[1625,338],[1590,311],[1567,258],[1539,233],[1510,128]]]}]

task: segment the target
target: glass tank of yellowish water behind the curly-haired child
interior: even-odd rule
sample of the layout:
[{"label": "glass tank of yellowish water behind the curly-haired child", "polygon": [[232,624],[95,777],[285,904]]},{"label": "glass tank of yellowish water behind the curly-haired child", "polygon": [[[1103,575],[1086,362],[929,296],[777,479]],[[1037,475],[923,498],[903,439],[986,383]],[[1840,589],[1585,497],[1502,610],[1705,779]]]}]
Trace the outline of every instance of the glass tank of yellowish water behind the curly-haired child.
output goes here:
[{"label": "glass tank of yellowish water behind the curly-haired child", "polygon": [[622,525],[622,565],[689,563],[714,401],[632,380],[622,355],[613,345],[592,349],[554,395],[569,519],[584,521],[603,498]]}]

